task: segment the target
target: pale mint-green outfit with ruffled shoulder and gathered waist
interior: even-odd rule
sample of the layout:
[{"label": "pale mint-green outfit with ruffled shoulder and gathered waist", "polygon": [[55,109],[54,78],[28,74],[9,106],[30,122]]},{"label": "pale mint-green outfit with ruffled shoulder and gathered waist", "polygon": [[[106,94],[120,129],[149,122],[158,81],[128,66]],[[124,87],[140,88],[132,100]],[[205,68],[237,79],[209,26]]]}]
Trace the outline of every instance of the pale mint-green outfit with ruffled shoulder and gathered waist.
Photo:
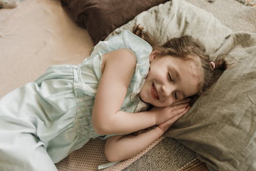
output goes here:
[{"label": "pale mint-green outfit with ruffled shoulder and gathered waist", "polygon": [[52,66],[35,82],[0,99],[1,170],[57,170],[54,163],[91,138],[112,136],[98,135],[91,117],[102,55],[121,48],[135,52],[137,65],[120,110],[135,113],[147,109],[138,93],[150,67],[152,47],[123,31],[100,41],[80,65]]}]

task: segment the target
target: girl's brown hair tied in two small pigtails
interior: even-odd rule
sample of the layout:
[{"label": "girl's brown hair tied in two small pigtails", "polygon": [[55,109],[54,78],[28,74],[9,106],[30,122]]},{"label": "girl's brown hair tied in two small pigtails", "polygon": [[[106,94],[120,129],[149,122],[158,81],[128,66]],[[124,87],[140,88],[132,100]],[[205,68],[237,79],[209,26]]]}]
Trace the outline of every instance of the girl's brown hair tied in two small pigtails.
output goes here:
[{"label": "girl's brown hair tied in two small pigtails", "polygon": [[153,50],[158,50],[160,56],[171,55],[183,60],[191,60],[187,56],[192,56],[192,60],[195,62],[197,61],[196,57],[199,57],[200,62],[198,63],[201,65],[202,74],[197,95],[203,94],[212,84],[214,70],[225,70],[227,68],[227,62],[224,58],[215,61],[214,68],[209,61],[209,56],[206,54],[204,46],[191,36],[185,35],[179,38],[172,38],[165,42],[164,45],[159,46],[149,33],[143,31],[143,27],[135,26],[133,33],[146,40],[153,47]]}]

